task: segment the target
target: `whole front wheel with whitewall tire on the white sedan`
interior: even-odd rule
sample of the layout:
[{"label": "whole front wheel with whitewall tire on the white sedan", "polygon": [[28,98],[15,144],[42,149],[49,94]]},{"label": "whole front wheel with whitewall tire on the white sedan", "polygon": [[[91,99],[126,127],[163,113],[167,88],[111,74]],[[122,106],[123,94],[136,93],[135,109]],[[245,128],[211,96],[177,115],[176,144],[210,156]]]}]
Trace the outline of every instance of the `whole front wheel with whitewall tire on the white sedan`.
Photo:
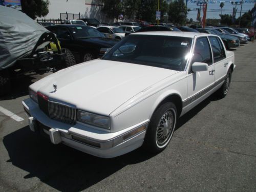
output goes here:
[{"label": "whole front wheel with whitewall tire on the white sedan", "polygon": [[167,147],[173,137],[177,122],[177,109],[174,103],[166,102],[152,115],[144,140],[144,148],[152,153],[159,153]]}]

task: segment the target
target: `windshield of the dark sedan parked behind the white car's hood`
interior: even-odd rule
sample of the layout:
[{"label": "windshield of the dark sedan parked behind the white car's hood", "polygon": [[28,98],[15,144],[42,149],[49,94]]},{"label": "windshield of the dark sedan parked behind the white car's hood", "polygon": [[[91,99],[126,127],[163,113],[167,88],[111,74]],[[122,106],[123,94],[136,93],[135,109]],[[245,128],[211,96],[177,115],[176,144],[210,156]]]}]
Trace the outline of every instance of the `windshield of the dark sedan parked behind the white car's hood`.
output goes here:
[{"label": "windshield of the dark sedan parked behind the white car's hood", "polygon": [[79,26],[69,28],[75,39],[105,37],[102,33],[92,27]]}]

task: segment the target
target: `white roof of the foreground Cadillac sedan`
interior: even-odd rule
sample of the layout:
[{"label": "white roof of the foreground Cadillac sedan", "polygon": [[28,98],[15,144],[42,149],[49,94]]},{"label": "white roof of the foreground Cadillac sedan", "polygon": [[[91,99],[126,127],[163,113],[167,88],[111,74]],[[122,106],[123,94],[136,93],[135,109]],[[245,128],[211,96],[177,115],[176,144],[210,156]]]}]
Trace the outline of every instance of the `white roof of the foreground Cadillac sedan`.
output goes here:
[{"label": "white roof of the foreground Cadillac sedan", "polygon": [[162,36],[177,36],[177,37],[189,37],[194,38],[196,36],[218,36],[214,34],[196,33],[196,32],[183,32],[183,31],[146,31],[136,32],[130,35],[162,35]]}]

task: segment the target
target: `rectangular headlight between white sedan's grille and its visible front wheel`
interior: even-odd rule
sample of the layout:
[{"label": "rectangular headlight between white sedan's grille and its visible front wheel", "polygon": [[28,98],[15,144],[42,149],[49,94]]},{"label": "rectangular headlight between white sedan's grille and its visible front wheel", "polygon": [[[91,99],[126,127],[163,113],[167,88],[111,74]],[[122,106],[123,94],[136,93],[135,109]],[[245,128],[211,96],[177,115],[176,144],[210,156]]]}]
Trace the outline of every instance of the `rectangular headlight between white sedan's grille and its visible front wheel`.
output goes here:
[{"label": "rectangular headlight between white sedan's grille and its visible front wheel", "polygon": [[107,116],[78,110],[77,120],[79,122],[101,127],[103,129],[110,129],[110,118]]}]

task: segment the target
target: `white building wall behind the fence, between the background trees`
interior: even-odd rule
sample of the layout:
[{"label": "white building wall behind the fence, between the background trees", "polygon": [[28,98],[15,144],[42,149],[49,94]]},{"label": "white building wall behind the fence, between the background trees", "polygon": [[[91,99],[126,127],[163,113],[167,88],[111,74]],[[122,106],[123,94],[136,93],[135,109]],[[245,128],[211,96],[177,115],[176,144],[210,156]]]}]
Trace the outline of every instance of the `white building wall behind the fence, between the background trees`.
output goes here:
[{"label": "white building wall behind the fence, between the background trees", "polygon": [[38,19],[58,19],[60,13],[68,12],[80,13],[81,18],[96,18],[99,22],[112,22],[101,12],[102,5],[100,0],[50,0],[48,15]]}]

